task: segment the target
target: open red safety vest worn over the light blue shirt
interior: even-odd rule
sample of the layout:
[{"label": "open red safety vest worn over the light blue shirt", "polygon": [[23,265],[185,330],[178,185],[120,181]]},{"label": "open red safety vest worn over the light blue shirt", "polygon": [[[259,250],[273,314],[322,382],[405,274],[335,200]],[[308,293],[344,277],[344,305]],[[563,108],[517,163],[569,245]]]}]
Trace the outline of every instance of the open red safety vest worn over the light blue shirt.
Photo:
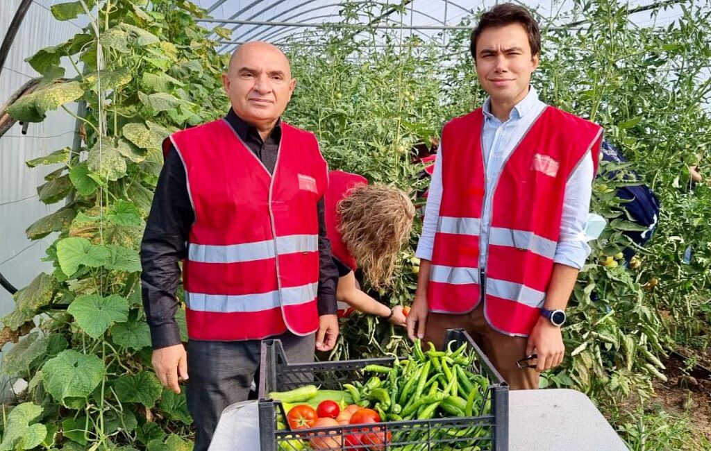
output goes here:
[{"label": "open red safety vest worn over the light blue shirt", "polygon": [[[546,107],[506,161],[495,184],[482,293],[479,235],[486,187],[477,109],[442,130],[442,202],[434,235],[429,310],[466,313],[484,300],[496,330],[527,336],[538,321],[560,236],[565,183],[602,129]],[[474,131],[474,132],[473,132]]]}]

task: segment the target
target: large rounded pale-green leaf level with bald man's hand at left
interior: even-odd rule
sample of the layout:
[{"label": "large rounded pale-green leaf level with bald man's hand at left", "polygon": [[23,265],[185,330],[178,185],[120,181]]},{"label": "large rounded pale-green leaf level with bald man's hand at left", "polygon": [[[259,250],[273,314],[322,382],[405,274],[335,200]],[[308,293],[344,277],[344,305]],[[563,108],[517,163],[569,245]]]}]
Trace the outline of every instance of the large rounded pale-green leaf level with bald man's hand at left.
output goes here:
[{"label": "large rounded pale-green leaf level with bald man's hand at left", "polygon": [[44,387],[57,401],[86,398],[104,379],[104,362],[94,354],[67,349],[42,367]]}]

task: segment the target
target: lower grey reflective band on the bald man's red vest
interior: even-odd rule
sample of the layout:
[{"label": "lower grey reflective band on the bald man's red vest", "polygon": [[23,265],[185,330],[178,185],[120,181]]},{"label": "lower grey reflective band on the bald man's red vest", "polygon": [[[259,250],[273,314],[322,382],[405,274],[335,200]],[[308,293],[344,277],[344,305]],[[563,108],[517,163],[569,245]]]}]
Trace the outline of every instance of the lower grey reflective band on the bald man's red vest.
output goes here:
[{"label": "lower grey reflective band on the bald man's red vest", "polygon": [[[282,288],[284,305],[300,305],[316,298],[318,283]],[[279,307],[279,290],[267,293],[245,295],[208,295],[203,293],[188,293],[186,303],[191,310],[215,313],[247,313],[260,312]]]}]

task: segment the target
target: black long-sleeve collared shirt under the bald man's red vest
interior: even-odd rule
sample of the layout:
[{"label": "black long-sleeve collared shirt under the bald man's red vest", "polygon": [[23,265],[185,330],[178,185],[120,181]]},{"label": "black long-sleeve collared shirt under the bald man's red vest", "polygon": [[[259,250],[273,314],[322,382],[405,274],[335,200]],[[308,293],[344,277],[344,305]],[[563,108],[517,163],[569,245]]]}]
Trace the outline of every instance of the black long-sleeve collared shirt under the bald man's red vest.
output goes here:
[{"label": "black long-sleeve collared shirt under the bald man's red vest", "polygon": [[[231,109],[225,119],[269,173],[274,173],[282,138],[281,120],[267,139],[262,141],[257,129],[240,119]],[[333,315],[336,314],[338,270],[331,259],[331,242],[326,237],[323,197],[316,209],[319,215],[319,315]],[[175,148],[171,146],[158,178],[141,241],[141,294],[154,349],[181,342],[174,319],[178,307],[175,293],[181,276],[178,261],[188,255],[188,234],[194,220],[185,168]]]}]

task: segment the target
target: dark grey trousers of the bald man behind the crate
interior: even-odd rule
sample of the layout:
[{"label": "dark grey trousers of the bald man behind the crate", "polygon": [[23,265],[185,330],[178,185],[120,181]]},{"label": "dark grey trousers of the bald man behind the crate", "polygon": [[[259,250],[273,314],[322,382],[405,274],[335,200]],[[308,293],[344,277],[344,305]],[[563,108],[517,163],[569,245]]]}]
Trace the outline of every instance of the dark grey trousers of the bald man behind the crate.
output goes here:
[{"label": "dark grey trousers of the bald man behind the crate", "polygon": [[[281,339],[289,362],[313,362],[315,334],[291,332]],[[188,411],[196,428],[195,451],[205,451],[222,411],[245,401],[260,364],[261,340],[238,342],[188,341]]]}]

